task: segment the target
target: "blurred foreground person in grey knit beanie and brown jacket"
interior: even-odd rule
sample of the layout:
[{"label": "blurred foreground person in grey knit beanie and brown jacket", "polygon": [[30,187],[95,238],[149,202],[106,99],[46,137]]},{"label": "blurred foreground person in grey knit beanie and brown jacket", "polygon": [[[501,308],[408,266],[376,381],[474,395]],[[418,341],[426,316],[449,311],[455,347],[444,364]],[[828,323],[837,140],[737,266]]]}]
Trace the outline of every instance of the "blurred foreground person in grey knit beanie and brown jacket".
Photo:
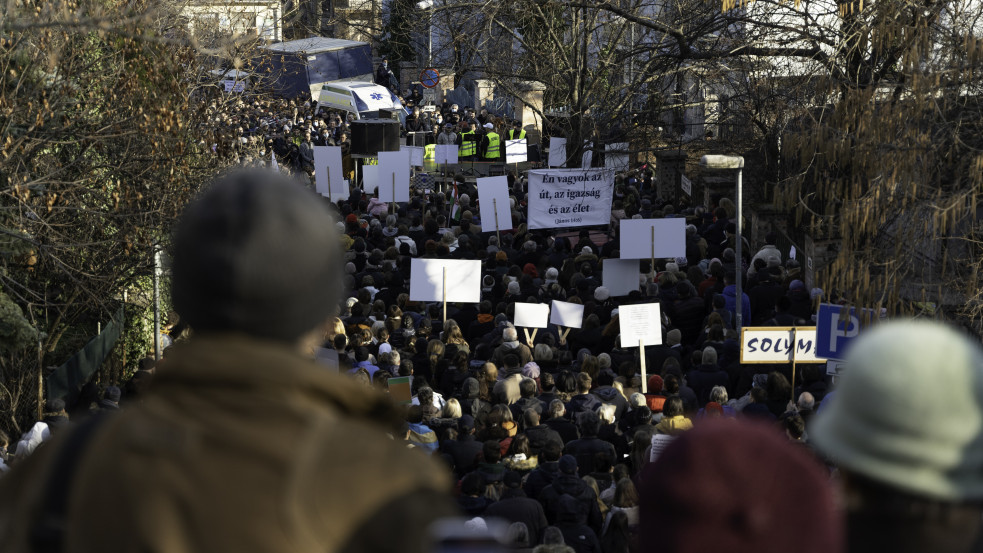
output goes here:
[{"label": "blurred foreground person in grey knit beanie and brown jacket", "polygon": [[309,360],[342,297],[322,202],[237,173],[187,209],[173,300],[195,336],[142,404],[0,481],[4,551],[424,550],[454,512],[443,472],[386,435],[388,399]]}]

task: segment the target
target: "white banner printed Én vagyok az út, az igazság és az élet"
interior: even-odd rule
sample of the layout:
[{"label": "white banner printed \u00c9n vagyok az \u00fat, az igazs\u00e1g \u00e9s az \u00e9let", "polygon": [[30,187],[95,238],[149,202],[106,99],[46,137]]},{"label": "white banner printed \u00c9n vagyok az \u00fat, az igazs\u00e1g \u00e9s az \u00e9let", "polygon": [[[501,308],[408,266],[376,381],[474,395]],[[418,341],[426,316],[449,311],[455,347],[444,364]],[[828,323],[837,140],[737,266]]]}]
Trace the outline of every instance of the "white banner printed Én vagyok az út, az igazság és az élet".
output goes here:
[{"label": "white banner printed \u00c9n vagyok az \u00fat, az igazs\u00e1g \u00e9s az \u00e9let", "polygon": [[529,228],[606,225],[613,195],[610,169],[529,171]]}]

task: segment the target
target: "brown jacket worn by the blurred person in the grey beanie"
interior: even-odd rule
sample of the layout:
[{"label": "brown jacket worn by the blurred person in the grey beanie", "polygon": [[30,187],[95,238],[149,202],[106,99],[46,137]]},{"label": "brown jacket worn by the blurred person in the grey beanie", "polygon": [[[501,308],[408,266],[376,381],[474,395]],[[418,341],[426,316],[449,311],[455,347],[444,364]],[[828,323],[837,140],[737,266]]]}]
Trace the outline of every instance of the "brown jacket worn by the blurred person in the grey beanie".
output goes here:
[{"label": "brown jacket worn by the blurred person in the grey beanie", "polygon": [[[386,436],[385,396],[280,344],[179,347],[86,446],[65,551],[422,553],[428,524],[453,513],[444,471]],[[0,479],[4,551],[29,551],[58,440]]]}]

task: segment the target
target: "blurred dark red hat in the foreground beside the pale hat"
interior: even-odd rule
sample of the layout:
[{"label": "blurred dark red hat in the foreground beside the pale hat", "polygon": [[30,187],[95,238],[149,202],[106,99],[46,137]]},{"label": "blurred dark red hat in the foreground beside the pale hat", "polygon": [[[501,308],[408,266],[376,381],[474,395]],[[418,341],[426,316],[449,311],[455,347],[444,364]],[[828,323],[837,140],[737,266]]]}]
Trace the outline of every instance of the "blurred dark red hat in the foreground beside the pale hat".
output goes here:
[{"label": "blurred dark red hat in the foreground beside the pale hat", "polygon": [[839,553],[826,471],[758,423],[704,422],[641,473],[639,553]]}]

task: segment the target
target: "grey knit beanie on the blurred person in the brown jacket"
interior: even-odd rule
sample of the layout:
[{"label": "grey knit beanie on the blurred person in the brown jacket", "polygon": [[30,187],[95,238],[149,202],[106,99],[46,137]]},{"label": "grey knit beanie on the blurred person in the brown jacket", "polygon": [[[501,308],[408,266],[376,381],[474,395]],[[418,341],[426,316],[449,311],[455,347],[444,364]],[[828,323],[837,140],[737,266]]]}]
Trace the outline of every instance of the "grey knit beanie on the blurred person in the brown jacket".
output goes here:
[{"label": "grey knit beanie on the blurred person in the brown jacket", "polygon": [[324,201],[289,177],[238,171],[185,210],[172,295],[198,332],[294,341],[341,294],[337,233]]}]

